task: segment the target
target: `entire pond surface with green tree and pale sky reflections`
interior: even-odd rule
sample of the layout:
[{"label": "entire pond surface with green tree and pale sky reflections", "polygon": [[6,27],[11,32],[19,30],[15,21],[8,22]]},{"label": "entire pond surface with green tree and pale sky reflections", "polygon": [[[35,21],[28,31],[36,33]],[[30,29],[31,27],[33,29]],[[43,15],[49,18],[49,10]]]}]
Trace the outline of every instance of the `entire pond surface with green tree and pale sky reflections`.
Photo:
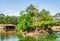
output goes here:
[{"label": "entire pond surface with green tree and pale sky reflections", "polygon": [[20,33],[0,33],[0,41],[60,41],[60,32],[46,36],[39,36],[38,38],[23,37]]}]

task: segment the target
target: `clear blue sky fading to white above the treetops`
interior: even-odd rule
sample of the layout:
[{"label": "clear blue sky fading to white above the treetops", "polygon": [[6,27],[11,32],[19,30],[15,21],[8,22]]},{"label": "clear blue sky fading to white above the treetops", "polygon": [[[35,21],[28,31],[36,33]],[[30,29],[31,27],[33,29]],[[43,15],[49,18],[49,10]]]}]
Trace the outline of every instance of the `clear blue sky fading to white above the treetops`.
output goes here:
[{"label": "clear blue sky fading to white above the treetops", "polygon": [[27,6],[33,4],[41,11],[46,9],[51,15],[60,13],[60,0],[0,0],[0,13],[10,16],[19,16]]}]

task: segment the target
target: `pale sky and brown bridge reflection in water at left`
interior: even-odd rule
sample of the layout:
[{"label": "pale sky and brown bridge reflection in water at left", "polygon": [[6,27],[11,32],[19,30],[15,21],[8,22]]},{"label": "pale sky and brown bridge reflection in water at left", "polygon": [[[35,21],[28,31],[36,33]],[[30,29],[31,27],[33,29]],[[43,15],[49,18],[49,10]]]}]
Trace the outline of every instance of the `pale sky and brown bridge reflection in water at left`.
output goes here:
[{"label": "pale sky and brown bridge reflection in water at left", "polygon": [[18,41],[16,33],[0,33],[0,41]]}]

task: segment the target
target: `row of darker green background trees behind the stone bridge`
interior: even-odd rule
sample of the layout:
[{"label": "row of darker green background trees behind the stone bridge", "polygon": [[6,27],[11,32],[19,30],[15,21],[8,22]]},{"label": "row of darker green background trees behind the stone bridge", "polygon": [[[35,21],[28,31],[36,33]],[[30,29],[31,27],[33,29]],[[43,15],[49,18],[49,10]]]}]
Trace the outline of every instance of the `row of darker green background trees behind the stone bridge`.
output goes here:
[{"label": "row of darker green background trees behind the stone bridge", "polygon": [[5,16],[0,14],[0,24],[17,24],[18,18],[16,16]]}]

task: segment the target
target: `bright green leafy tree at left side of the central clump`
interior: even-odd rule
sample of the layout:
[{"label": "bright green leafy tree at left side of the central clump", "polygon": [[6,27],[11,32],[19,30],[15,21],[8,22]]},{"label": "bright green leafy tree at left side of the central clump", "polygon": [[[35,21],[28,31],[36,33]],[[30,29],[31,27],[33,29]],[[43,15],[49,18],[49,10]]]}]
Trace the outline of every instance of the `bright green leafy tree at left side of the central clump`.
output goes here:
[{"label": "bright green leafy tree at left side of the central clump", "polygon": [[18,29],[26,29],[30,26],[30,18],[28,14],[24,14],[20,17],[18,17]]}]

